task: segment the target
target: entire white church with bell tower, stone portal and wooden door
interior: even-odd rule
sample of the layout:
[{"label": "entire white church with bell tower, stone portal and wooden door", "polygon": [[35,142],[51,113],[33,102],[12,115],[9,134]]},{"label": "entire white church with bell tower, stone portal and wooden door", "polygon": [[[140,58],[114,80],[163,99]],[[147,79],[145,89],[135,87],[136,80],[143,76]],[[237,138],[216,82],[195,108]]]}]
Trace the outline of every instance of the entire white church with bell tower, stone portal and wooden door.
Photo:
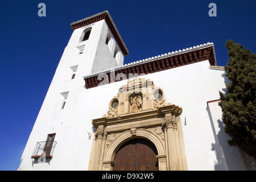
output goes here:
[{"label": "entire white church with bell tower, stone portal and wooden door", "polygon": [[214,44],[123,65],[108,11],[71,24],[18,170],[253,170],[230,147]]}]

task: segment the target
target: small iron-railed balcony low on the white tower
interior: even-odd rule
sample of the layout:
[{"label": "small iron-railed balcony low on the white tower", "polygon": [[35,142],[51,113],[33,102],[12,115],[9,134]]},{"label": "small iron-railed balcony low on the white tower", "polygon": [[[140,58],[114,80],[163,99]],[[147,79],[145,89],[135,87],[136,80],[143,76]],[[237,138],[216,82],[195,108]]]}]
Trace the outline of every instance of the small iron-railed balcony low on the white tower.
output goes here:
[{"label": "small iron-railed balcony low on the white tower", "polygon": [[39,159],[45,156],[47,159],[51,159],[56,144],[55,140],[37,142],[31,158]]}]

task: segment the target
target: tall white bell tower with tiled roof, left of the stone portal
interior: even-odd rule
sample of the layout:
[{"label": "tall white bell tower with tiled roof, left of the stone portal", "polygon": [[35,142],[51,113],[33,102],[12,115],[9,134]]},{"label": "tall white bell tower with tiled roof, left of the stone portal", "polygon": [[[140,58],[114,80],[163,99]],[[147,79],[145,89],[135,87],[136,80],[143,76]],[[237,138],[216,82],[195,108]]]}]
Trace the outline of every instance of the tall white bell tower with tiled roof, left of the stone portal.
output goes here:
[{"label": "tall white bell tower with tiled roof, left of the stone portal", "polygon": [[[97,108],[88,103],[93,94],[101,92],[85,89],[83,77],[123,65],[123,58],[129,52],[108,11],[74,22],[71,28],[73,33],[49,85],[18,170],[88,167],[86,155],[90,154],[88,146],[92,144],[88,134],[93,133],[88,121],[90,114],[97,114]],[[88,106],[93,111],[86,111]]]}]

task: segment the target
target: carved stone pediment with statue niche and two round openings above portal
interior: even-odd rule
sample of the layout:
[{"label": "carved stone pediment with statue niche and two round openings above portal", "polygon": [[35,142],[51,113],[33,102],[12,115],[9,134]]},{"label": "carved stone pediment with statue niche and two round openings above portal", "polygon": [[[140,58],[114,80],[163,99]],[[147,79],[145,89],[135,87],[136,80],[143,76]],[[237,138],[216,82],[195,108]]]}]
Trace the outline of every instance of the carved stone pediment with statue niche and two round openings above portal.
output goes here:
[{"label": "carved stone pediment with statue niche and two round openings above portal", "polygon": [[126,85],[119,88],[117,96],[113,97],[109,103],[106,118],[157,110],[159,107],[167,105],[171,104],[166,102],[163,89],[156,87],[150,79],[137,77],[128,80]]}]

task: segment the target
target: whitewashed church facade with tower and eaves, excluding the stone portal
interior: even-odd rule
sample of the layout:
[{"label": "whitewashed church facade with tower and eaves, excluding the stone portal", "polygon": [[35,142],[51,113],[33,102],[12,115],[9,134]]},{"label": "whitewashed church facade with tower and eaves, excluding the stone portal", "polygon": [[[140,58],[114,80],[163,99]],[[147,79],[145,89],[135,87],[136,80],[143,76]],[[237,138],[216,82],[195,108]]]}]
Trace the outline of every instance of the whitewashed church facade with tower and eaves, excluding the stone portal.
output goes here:
[{"label": "whitewashed church facade with tower and eaves, excluding the stone portal", "polygon": [[[99,18],[101,16],[102,19]],[[77,24],[81,24],[80,27],[73,28]],[[200,52],[205,48],[212,50],[209,55],[213,56],[210,57],[213,61],[201,59],[191,64],[189,61],[180,63],[183,60],[180,58],[174,67],[170,65],[167,69],[167,65],[160,62],[164,69],[160,65],[155,68],[161,67],[160,71],[137,73],[139,78],[150,79],[161,88],[166,102],[182,107],[180,123],[188,170],[254,169],[253,159],[246,158],[238,148],[230,147],[226,142],[229,137],[221,121],[218,92],[225,92],[228,79],[224,68],[216,66],[213,43],[123,65],[123,59],[129,52],[107,11],[72,23],[71,26],[73,34],[49,86],[18,170],[89,169],[96,131],[92,120],[107,114],[110,101],[129,80],[104,85],[90,83],[88,86],[86,79],[88,81],[93,76],[136,68],[137,65],[173,56],[181,55],[185,59],[184,56],[189,56],[190,52]],[[89,38],[83,41],[88,31]],[[47,157],[40,156],[42,152],[34,154],[35,150],[40,150],[40,147],[36,148],[36,143],[46,141],[52,134],[56,143],[51,148],[51,154]]]}]

